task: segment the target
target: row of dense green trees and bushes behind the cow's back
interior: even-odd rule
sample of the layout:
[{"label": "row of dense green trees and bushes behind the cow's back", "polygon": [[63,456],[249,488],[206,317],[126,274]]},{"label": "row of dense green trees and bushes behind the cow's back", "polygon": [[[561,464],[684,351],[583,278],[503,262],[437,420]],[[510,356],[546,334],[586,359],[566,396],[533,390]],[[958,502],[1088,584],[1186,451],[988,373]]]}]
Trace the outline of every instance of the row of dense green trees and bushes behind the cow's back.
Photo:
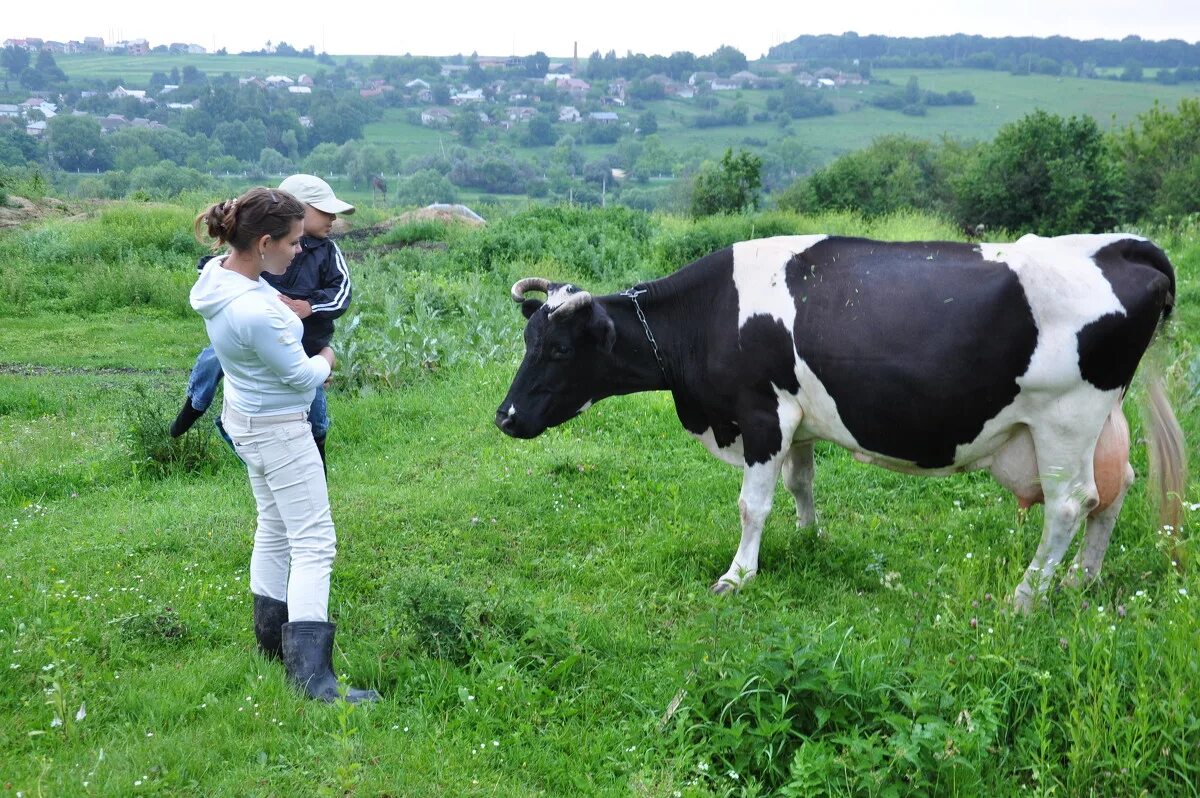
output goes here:
[{"label": "row of dense green trees and bushes behind the cow's back", "polygon": [[792,184],[800,212],[932,211],[964,229],[1099,233],[1200,214],[1200,100],[1156,106],[1109,133],[1091,116],[1037,110],[991,142],[884,136]]}]

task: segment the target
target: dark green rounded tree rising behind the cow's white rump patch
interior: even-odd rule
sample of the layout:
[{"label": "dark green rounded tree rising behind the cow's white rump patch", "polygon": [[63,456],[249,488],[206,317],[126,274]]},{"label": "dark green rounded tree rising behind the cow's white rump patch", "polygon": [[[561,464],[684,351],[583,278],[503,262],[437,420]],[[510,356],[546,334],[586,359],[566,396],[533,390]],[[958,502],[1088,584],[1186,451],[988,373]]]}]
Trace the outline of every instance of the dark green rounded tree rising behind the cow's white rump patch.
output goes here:
[{"label": "dark green rounded tree rising behind the cow's white rump patch", "polygon": [[1012,233],[1099,233],[1118,221],[1120,182],[1091,116],[1037,110],[1006,125],[952,179],[960,223]]}]

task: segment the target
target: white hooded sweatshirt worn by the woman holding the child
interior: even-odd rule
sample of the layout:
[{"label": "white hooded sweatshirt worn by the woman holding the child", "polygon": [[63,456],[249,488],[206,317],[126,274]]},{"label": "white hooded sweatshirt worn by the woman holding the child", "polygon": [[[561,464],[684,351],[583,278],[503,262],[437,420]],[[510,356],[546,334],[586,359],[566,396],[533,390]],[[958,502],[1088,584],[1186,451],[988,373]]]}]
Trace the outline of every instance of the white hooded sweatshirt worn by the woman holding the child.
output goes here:
[{"label": "white hooded sweatshirt worn by the woman holding the child", "polygon": [[262,277],[224,269],[223,262],[205,264],[190,299],[224,371],[224,401],[245,415],[307,410],[329,377],[329,361],[305,354],[304,324],[276,289]]}]

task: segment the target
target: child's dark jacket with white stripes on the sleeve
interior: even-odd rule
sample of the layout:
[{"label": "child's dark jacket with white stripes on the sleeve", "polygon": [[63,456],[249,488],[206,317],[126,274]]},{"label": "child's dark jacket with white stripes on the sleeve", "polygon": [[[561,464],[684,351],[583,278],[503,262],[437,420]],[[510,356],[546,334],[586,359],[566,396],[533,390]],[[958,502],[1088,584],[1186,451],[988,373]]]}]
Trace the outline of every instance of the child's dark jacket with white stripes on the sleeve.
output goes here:
[{"label": "child's dark jacket with white stripes on the sleeve", "polygon": [[[204,269],[214,257],[204,256],[196,268]],[[264,271],[263,280],[284,296],[312,305],[312,316],[304,319],[300,342],[305,353],[311,358],[328,347],[334,337],[334,319],[350,306],[350,272],[338,246],[331,239],[304,235],[300,254],[292,259],[288,270],[282,275]]]}]

